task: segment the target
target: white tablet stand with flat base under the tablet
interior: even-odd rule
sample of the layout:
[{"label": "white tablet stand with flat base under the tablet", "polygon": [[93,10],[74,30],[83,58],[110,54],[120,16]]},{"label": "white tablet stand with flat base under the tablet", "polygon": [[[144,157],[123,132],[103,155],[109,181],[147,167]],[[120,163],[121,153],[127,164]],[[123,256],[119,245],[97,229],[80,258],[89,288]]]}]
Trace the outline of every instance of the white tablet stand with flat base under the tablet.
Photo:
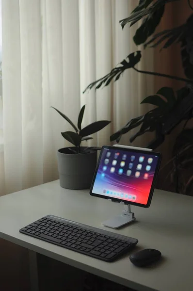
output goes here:
[{"label": "white tablet stand with flat base under the tablet", "polygon": [[[112,199],[108,199],[109,201],[112,201]],[[111,227],[111,228],[119,228],[121,226],[125,226],[129,224],[130,222],[134,221],[135,214],[131,212],[130,205],[125,204],[124,202],[120,202],[121,204],[124,204],[125,210],[122,211],[122,214],[114,216],[102,223],[103,226]]]}]

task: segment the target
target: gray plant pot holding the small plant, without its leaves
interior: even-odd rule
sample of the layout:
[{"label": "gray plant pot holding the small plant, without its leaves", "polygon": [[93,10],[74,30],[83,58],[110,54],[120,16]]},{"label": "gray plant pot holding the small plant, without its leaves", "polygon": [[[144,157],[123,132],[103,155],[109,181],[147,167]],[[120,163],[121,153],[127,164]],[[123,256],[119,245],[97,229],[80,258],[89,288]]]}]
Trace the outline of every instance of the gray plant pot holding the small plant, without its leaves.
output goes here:
[{"label": "gray plant pot holding the small plant, without its leaves", "polygon": [[59,149],[57,160],[60,186],[67,189],[90,188],[96,168],[96,159],[96,151],[88,154],[72,154],[68,147]]}]

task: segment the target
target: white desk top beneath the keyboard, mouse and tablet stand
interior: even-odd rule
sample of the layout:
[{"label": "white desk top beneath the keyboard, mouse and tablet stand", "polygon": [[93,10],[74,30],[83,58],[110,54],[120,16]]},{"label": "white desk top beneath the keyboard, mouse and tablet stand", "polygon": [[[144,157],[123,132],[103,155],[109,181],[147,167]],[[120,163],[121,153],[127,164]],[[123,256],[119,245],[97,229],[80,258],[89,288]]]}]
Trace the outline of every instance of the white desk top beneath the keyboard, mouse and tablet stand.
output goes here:
[{"label": "white desk top beneath the keyboard, mouse and tablet stand", "polygon": [[105,228],[101,222],[122,211],[121,205],[92,197],[88,190],[62,189],[59,181],[0,197],[0,238],[136,291],[192,291],[193,197],[155,190],[149,209],[132,210],[137,221],[112,231],[137,238],[135,250],[160,250],[164,259],[155,267],[135,267],[129,255],[106,263],[19,233],[47,214]]}]

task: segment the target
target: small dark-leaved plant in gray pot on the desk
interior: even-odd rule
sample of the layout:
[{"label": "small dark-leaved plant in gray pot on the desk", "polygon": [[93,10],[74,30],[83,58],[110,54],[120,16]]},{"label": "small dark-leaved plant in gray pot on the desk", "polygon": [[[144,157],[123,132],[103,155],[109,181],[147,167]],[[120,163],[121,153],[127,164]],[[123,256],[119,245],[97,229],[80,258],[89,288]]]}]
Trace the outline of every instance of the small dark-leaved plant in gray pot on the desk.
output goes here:
[{"label": "small dark-leaved plant in gray pot on the desk", "polygon": [[100,147],[81,146],[82,141],[93,139],[90,135],[106,127],[111,121],[100,120],[81,128],[85,105],[81,108],[77,126],[64,113],[55,109],[74,129],[61,132],[73,146],[57,152],[60,186],[67,189],[88,189],[96,168],[97,150]]}]

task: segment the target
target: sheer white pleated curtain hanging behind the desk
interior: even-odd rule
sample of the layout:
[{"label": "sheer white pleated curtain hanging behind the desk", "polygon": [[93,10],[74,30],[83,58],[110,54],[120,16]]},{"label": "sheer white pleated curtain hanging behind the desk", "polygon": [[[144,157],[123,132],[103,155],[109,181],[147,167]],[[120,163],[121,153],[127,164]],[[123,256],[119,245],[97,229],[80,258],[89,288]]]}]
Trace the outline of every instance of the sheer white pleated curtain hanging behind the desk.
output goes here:
[{"label": "sheer white pleated curtain hanging behind the desk", "polygon": [[[134,3],[133,3],[134,2]],[[111,133],[146,110],[153,80],[134,71],[103,89],[82,94],[135,51],[136,26],[122,28],[133,0],[2,0],[3,150],[0,194],[58,178],[56,152],[71,129],[50,106],[83,124],[112,120],[89,145],[110,144]],[[139,49],[139,48],[138,48]],[[152,69],[152,51],[141,67]],[[150,55],[151,54],[151,55]],[[129,135],[122,143],[129,143]],[[141,142],[138,140],[137,144]]]}]

